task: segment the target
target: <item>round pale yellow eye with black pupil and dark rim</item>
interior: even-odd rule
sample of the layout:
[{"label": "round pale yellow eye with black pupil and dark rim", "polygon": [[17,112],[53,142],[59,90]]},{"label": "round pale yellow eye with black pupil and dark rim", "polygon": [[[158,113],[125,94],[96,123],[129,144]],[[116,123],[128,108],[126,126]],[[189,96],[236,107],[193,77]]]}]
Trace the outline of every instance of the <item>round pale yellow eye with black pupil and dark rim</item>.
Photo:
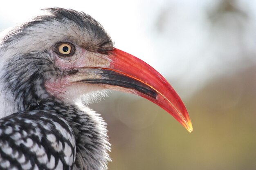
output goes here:
[{"label": "round pale yellow eye with black pupil and dark rim", "polygon": [[55,52],[58,55],[70,56],[74,53],[74,46],[68,42],[58,43],[55,47]]}]

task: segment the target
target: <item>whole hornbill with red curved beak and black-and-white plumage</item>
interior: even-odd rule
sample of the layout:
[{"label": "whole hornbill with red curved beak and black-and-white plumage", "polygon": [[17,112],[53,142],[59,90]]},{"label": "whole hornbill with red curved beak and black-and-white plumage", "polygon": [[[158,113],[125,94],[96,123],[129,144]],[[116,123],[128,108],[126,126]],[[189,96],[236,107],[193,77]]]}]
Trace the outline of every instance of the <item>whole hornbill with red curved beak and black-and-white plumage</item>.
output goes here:
[{"label": "whole hornbill with red curved beak and black-and-white plumage", "polygon": [[1,170],[107,170],[106,122],[88,104],[108,89],[150,100],[192,132],[171,84],[117,49],[99,22],[73,9],[43,10],[0,39]]}]

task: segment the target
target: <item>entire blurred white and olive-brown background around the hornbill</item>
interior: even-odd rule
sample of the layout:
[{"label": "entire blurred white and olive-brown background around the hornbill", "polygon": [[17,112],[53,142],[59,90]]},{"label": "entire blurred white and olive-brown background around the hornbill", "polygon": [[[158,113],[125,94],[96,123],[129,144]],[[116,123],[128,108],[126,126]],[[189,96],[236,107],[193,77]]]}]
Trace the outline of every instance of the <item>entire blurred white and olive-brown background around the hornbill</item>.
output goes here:
[{"label": "entire blurred white and olive-brown background around the hornbill", "polygon": [[135,95],[90,107],[108,123],[110,170],[256,170],[256,1],[4,1],[0,31],[45,7],[84,11],[115,46],[164,75],[193,132]]}]

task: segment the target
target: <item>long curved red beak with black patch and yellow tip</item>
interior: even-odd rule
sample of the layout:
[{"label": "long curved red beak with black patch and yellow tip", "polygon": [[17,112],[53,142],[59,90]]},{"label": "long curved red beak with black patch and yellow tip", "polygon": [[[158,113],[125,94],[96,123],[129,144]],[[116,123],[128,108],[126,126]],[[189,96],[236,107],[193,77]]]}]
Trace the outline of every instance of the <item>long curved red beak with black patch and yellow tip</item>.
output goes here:
[{"label": "long curved red beak with black patch and yellow tip", "polygon": [[171,84],[154,68],[139,58],[114,48],[107,57],[107,66],[90,67],[93,75],[77,82],[101,84],[116,91],[126,91],[144,97],[173,115],[189,132],[193,127],[182,100]]}]

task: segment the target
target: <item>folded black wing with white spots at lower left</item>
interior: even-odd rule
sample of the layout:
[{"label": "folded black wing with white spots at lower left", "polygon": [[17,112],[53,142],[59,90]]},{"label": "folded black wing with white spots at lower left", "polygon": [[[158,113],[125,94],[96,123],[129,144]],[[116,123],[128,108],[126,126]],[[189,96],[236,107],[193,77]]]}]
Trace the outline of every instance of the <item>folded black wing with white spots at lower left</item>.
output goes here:
[{"label": "folded black wing with white spots at lower left", "polygon": [[54,110],[27,110],[0,119],[0,169],[71,169],[76,155],[69,124]]}]

